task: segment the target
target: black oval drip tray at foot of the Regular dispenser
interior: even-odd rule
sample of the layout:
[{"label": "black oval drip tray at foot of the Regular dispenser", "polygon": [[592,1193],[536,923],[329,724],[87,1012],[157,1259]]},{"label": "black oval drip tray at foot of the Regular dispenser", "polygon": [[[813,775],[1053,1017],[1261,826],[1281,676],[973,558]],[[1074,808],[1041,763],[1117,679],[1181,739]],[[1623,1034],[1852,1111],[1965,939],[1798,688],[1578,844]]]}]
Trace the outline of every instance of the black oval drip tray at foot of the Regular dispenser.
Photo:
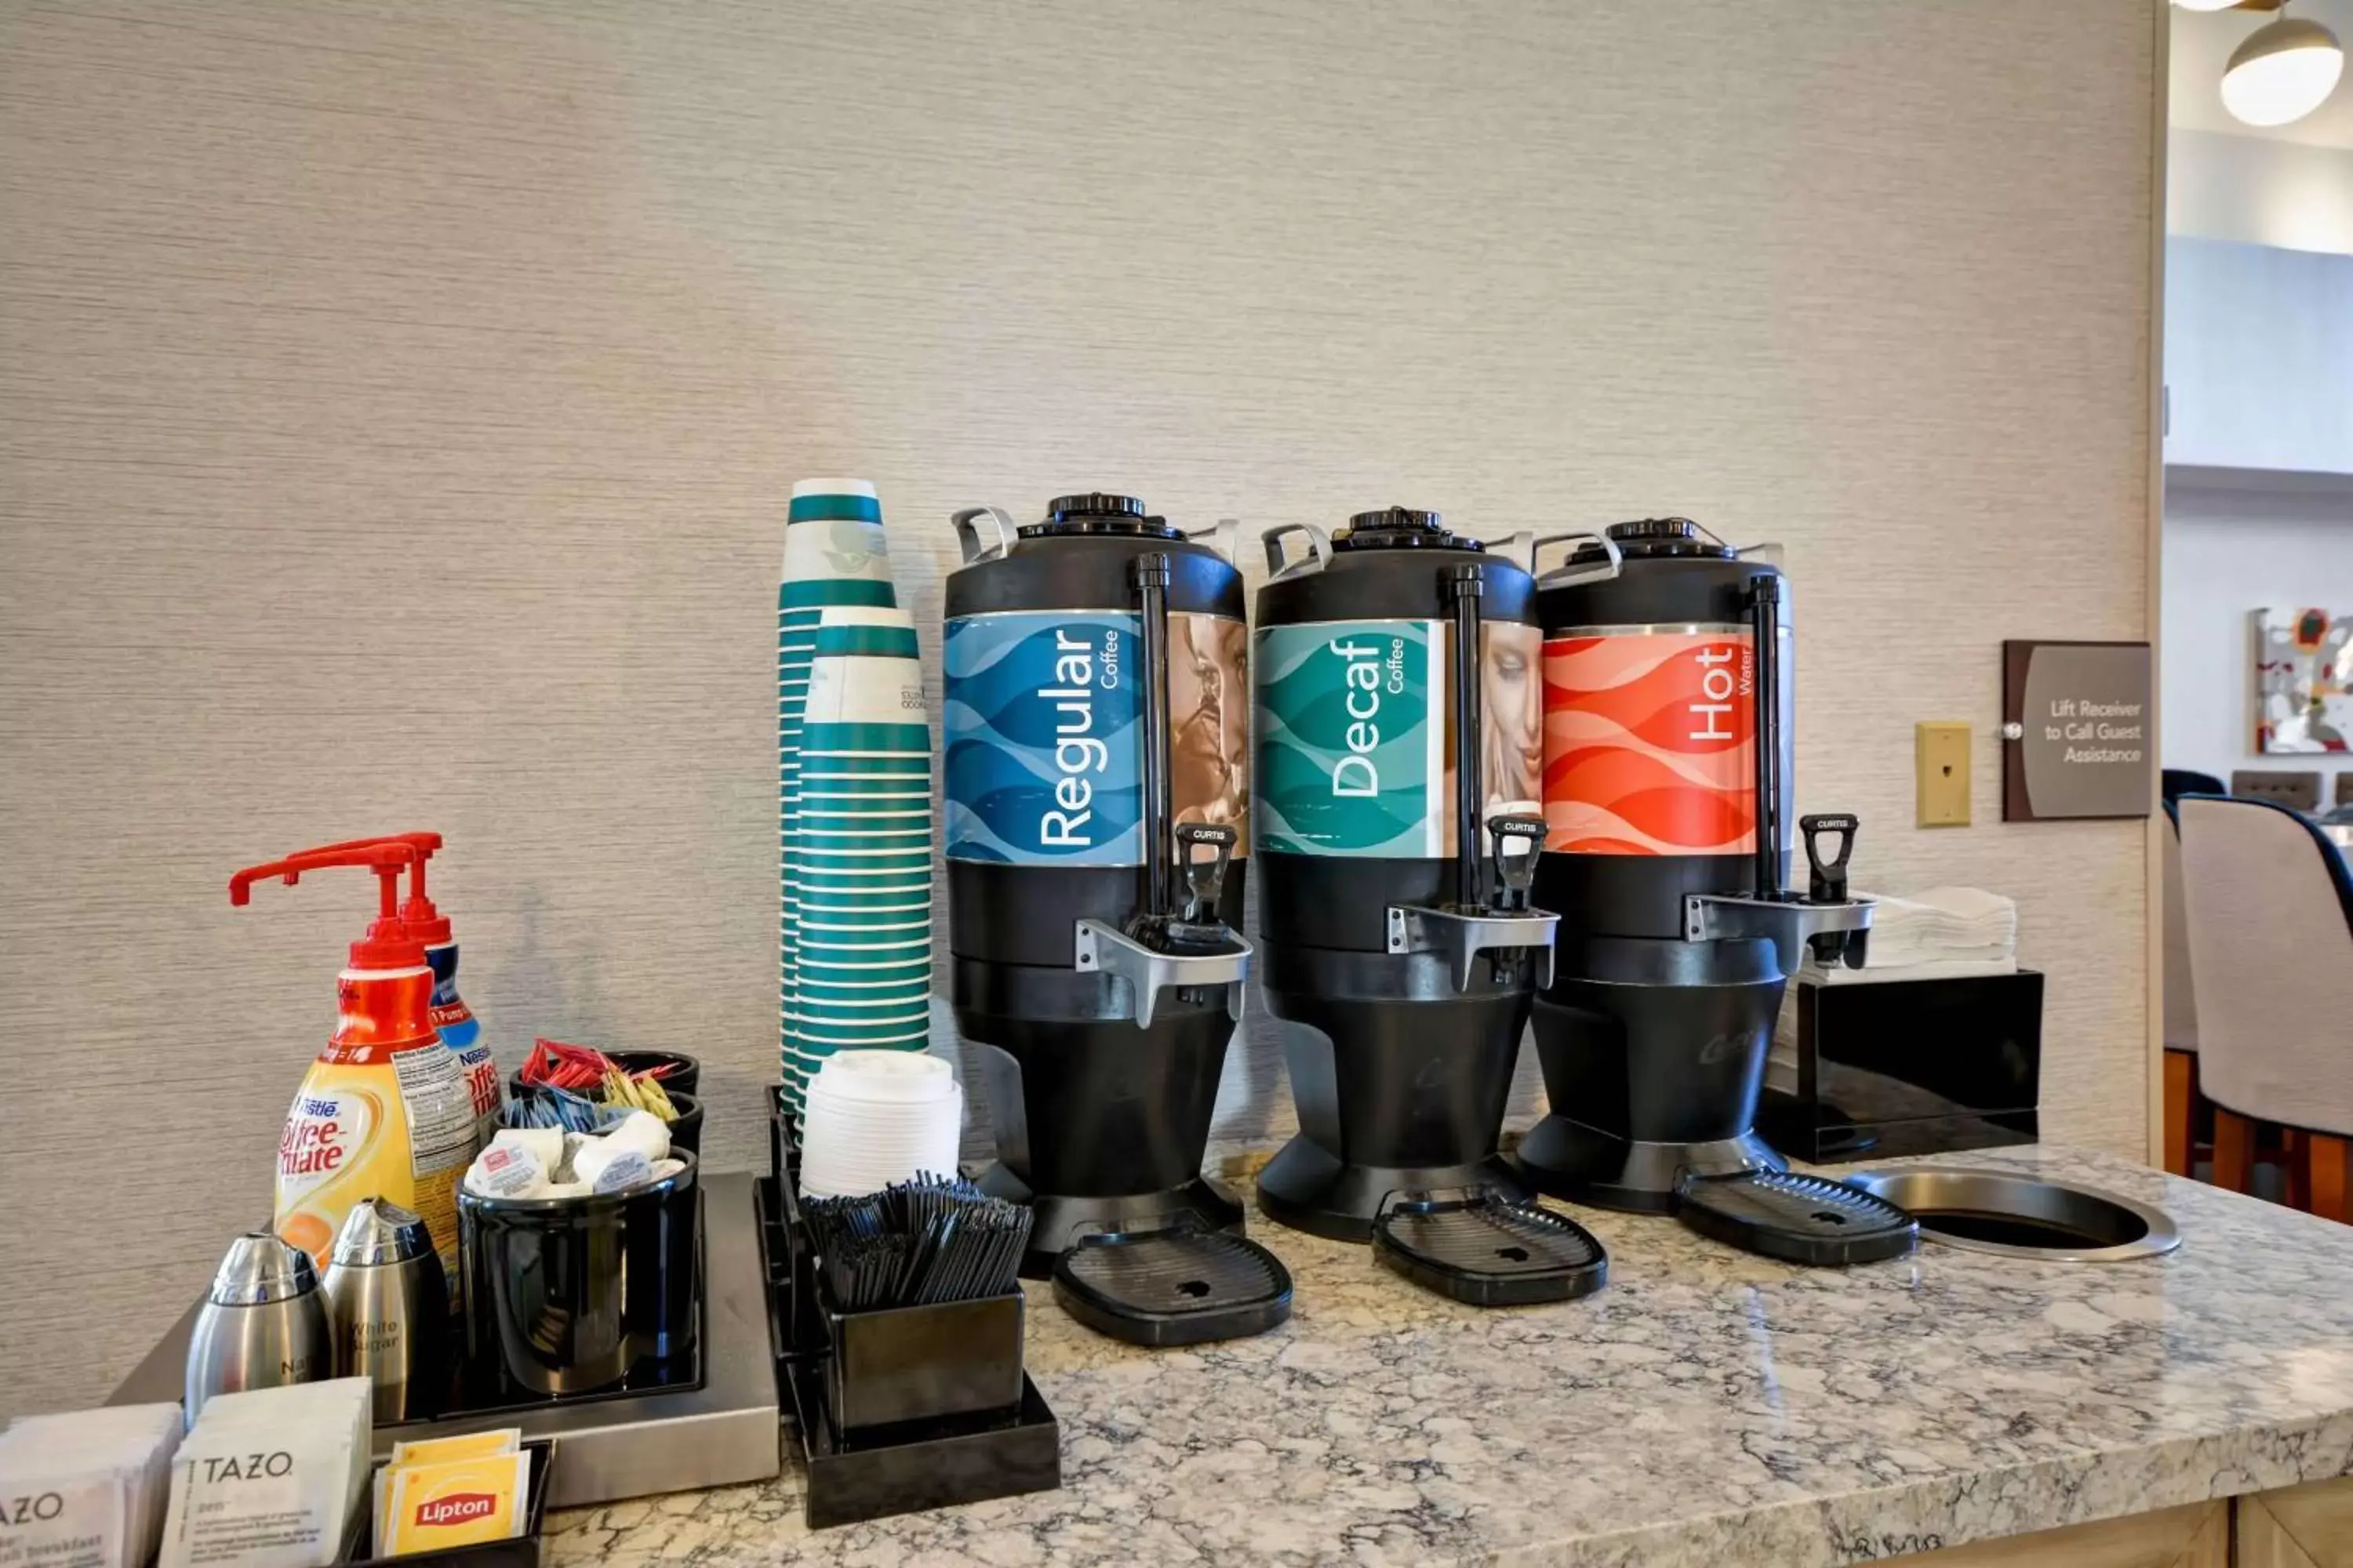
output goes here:
[{"label": "black oval drip tray at foot of the Regular dispenser", "polygon": [[1205,1345],[1292,1314],[1292,1272],[1257,1241],[1212,1229],[1085,1237],[1054,1260],[1054,1300],[1129,1345]]}]

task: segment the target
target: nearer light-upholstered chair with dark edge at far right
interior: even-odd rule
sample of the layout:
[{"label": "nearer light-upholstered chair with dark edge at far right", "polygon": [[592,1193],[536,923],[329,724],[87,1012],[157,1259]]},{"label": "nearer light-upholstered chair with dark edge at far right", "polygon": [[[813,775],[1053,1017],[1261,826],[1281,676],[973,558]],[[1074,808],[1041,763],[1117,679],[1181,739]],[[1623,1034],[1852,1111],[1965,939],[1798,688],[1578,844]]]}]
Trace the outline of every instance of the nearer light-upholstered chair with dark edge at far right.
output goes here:
[{"label": "nearer light-upholstered chair with dark edge at far right", "polygon": [[2353,872],[2285,806],[2186,795],[2174,813],[2214,1182],[2247,1190],[2271,1121],[2299,1133],[2292,1194],[2353,1222]]}]

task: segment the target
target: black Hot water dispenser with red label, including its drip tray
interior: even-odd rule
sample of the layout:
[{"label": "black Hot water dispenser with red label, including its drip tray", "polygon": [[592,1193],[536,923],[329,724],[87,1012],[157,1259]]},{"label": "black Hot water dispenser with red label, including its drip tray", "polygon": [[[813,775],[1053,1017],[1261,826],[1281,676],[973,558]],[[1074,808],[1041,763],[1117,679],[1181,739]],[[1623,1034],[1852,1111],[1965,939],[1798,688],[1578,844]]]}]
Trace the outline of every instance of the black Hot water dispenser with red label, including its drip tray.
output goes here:
[{"label": "black Hot water dispenser with red label, including its drip tray", "polygon": [[1541,574],[1537,609],[1537,903],[1560,914],[1560,945],[1537,999],[1551,1114],[1520,1171],[1777,1255],[1908,1248],[1901,1211],[1786,1175],[1753,1131],[1788,976],[1807,947],[1861,966],[1871,926],[1871,900],[1847,896],[1852,816],[1805,818],[1809,889],[1786,886],[1786,578],[1689,520],[1626,522]]}]

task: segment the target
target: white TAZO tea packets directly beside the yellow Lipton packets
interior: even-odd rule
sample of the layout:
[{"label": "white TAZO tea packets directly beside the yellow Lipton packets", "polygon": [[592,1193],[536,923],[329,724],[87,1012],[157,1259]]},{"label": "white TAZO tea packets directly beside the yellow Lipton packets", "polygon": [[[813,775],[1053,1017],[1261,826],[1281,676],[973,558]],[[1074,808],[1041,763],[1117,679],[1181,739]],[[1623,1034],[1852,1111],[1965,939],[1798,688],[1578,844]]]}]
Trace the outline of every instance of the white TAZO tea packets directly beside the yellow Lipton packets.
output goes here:
[{"label": "white TAZO tea packets directly beside the yellow Lipton packets", "polygon": [[367,1488],[374,1385],[219,1394],[172,1460],[160,1568],[327,1568]]}]

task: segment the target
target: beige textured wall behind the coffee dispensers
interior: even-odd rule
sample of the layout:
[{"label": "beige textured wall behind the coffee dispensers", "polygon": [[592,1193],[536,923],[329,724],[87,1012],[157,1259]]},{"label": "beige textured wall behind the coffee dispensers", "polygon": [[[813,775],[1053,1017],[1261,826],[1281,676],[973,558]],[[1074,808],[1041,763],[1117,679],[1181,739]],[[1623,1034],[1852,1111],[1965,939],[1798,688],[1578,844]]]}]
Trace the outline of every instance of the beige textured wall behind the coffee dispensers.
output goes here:
[{"label": "beige textured wall behind the coffee dispensers", "polygon": [[365,886],[245,860],[440,827],[499,1044],[696,1051],[758,1157],[809,473],[925,621],[1073,484],[1788,541],[1802,804],[2019,896],[2047,1128],[2139,1150],[2141,830],[1991,823],[1988,731],[2146,630],[2148,125],[2148,0],[0,5],[0,1413],[268,1204]]}]

